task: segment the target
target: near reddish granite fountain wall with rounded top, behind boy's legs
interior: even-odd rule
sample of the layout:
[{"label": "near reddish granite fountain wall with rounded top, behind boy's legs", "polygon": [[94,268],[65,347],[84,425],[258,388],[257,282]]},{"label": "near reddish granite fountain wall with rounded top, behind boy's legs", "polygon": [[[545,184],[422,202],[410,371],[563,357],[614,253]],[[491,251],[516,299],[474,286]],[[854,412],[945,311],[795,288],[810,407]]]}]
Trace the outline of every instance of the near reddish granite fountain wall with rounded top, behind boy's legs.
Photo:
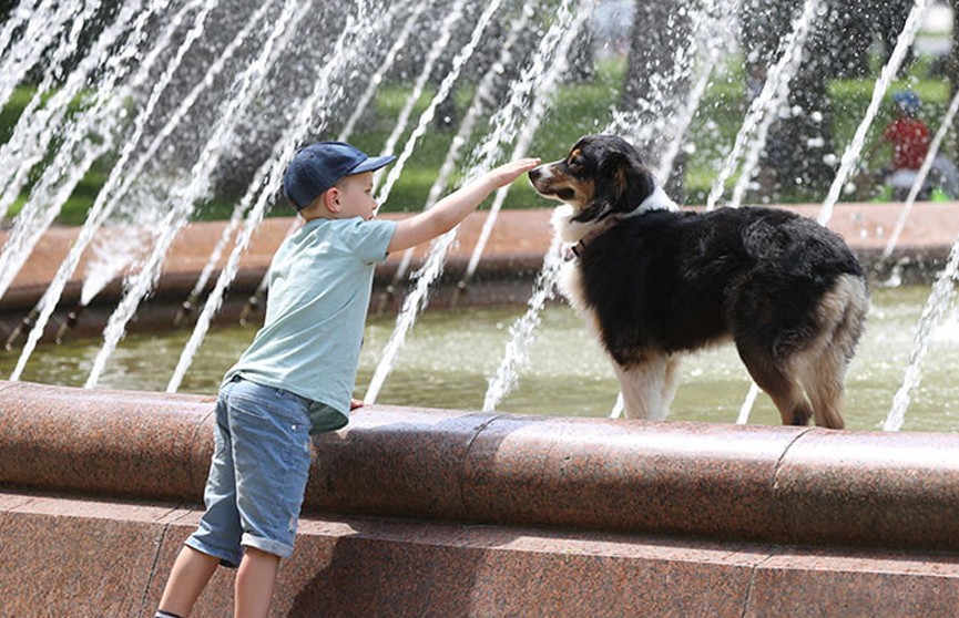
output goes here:
[{"label": "near reddish granite fountain wall with rounded top, behind boy's legs", "polygon": [[[0,382],[0,615],[151,615],[212,408]],[[959,435],[373,406],[314,451],[275,616],[959,615]]]}]

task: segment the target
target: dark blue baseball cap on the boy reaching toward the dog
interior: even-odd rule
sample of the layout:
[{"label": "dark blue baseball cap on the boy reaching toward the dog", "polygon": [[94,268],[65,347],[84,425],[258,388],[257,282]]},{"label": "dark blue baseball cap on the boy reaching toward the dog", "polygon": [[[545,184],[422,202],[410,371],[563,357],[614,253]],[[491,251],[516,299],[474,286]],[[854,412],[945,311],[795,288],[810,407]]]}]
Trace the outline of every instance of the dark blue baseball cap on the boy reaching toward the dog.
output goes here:
[{"label": "dark blue baseball cap on the boy reaching toward the dog", "polygon": [[373,172],[396,161],[395,156],[368,156],[345,142],[317,142],[300,148],[286,166],[283,193],[300,210],[344,177]]}]

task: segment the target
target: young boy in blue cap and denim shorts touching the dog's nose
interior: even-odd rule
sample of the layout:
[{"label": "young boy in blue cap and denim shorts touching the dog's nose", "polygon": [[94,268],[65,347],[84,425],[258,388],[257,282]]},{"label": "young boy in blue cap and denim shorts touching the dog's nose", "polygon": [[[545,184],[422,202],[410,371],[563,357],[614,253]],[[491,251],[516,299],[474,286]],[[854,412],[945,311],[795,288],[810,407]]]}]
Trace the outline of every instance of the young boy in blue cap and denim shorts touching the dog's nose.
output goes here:
[{"label": "young boy in blue cap and denim shorts touching the dog's nose", "polygon": [[378,220],[373,172],[394,161],[320,142],[289,163],[284,193],[305,224],[277,249],[263,328],[221,385],[206,512],[157,617],[187,616],[218,565],[238,567],[234,616],[266,616],[279,560],[293,552],[309,435],[343,428],[359,406],[351,393],[376,264],[448,231],[539,164],[506,164],[429,210]]}]

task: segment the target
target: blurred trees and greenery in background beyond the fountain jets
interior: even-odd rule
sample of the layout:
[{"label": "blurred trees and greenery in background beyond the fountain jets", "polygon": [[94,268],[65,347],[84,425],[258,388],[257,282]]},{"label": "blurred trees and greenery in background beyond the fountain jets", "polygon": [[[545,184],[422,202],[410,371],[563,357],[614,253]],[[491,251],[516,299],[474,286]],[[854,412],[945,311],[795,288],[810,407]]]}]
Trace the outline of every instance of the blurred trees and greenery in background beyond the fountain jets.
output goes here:
[{"label": "blurred trees and greenery in background beyond the fountain jets", "polygon": [[[959,0],[955,0],[959,2]],[[223,31],[229,19],[242,20],[239,11],[231,11],[229,2],[224,0],[222,17]],[[242,2],[241,2],[242,3]],[[875,87],[876,76],[888,59],[896,35],[902,29],[906,16],[912,3],[906,0],[824,0],[828,14],[823,16],[815,34],[809,42],[807,61],[803,63],[799,74],[794,80],[790,104],[804,110],[802,114],[783,119],[774,126],[769,143],[778,148],[776,157],[764,157],[764,165],[772,168],[773,182],[768,186],[755,187],[747,196],[753,202],[817,202],[825,196],[826,187],[835,174],[837,161],[843,150],[849,143],[856,127],[869,104]],[[247,2],[248,4],[248,2]],[[672,193],[685,204],[702,204],[710,186],[722,165],[735,135],[743,124],[749,103],[751,92],[755,92],[756,80],[776,59],[777,45],[792,27],[802,2],[794,0],[746,0],[736,23],[737,32],[720,33],[721,38],[730,39],[733,49],[737,50],[725,58],[713,72],[710,85],[697,109],[696,115],[684,141],[682,156],[677,161],[674,176],[669,181]],[[0,2],[0,16],[9,16],[16,10],[17,2]],[[106,23],[113,19],[121,2],[114,0],[104,2],[99,10],[99,22]],[[470,33],[472,18],[482,9],[483,3],[477,2],[470,7],[470,19],[461,21],[455,35],[456,42],[465,41]],[[429,19],[439,21],[446,2],[435,2],[427,10]],[[921,101],[921,117],[935,132],[946,113],[951,94],[957,83],[956,50],[952,43],[951,16],[955,7],[940,1],[931,2],[930,11],[919,38],[912,45],[909,58],[897,75],[897,81],[887,97],[895,90],[911,90]],[[235,14],[234,14],[235,13]],[[548,13],[545,11],[544,13]],[[641,0],[605,0],[590,21],[589,32],[580,37],[578,47],[571,59],[571,70],[568,79],[555,94],[551,112],[537,132],[530,153],[544,159],[563,156],[580,135],[603,130],[613,111],[644,113],[642,102],[651,91],[651,82],[673,69],[674,50],[684,37],[688,37],[687,17],[688,3],[683,0],[663,0],[644,2]],[[232,16],[232,17],[231,17]],[[328,17],[328,16],[326,16]],[[6,19],[6,18],[4,18]],[[387,212],[418,210],[426,202],[429,188],[442,163],[449,144],[456,134],[458,121],[465,114],[472,100],[479,79],[486,71],[493,70],[492,62],[502,44],[506,20],[500,19],[491,29],[481,47],[480,60],[471,62],[468,71],[457,84],[447,102],[440,106],[440,114],[429,132],[416,150],[414,156],[404,168],[400,181],[394,187]],[[523,40],[528,48],[533,45],[537,35],[541,34],[548,22],[537,24],[530,37]],[[335,20],[318,20],[317,39],[331,37],[341,23]],[[213,30],[211,30],[213,32]],[[95,37],[96,30],[84,31],[82,41]],[[217,40],[211,34],[204,41],[205,53],[197,55],[194,65],[185,71],[197,72],[204,61],[214,56],[221,50],[228,34]],[[351,136],[351,142],[370,154],[379,153],[392,131],[397,115],[404,106],[410,92],[411,83],[422,62],[424,53],[430,43],[430,37],[414,37],[397,66],[391,71],[377,91],[375,105],[363,117],[360,127]],[[451,50],[461,45],[452,44]],[[82,58],[83,45],[72,62]],[[433,96],[437,85],[446,71],[453,51],[440,61],[426,92],[420,96],[414,117],[426,109]],[[305,55],[309,60],[308,54]],[[302,60],[302,59],[300,59]],[[269,156],[273,142],[283,128],[289,110],[284,113],[283,106],[292,100],[280,87],[285,80],[298,80],[300,90],[303,83],[308,84],[315,74],[319,56],[313,56],[313,68],[309,62],[289,62],[286,72],[273,82],[272,97],[257,102],[257,110],[249,114],[248,123],[254,130],[239,131],[236,143],[231,148],[226,162],[217,173],[216,188],[210,199],[197,208],[195,217],[201,219],[217,219],[229,216],[233,206],[246,188],[256,166]],[[69,73],[68,64],[64,73]],[[522,65],[500,68],[503,79],[516,78]],[[33,95],[35,83],[42,75],[42,64],[31,72],[29,79],[18,86],[7,105],[0,110],[0,143],[10,138],[18,119]],[[184,82],[186,82],[184,78]],[[354,91],[363,82],[363,75],[353,75],[350,86]],[[688,79],[680,80],[671,87],[682,96],[690,87]],[[349,89],[346,91],[350,94]],[[353,93],[355,94],[355,93]],[[81,109],[81,95],[74,102],[74,109]],[[345,99],[341,107],[330,110],[336,117],[348,109],[350,101]],[[131,101],[131,107],[134,103]],[[820,112],[810,114],[812,110]],[[645,109],[645,113],[653,113]],[[810,117],[815,116],[815,122]],[[874,143],[885,124],[891,117],[891,105],[884,105],[879,117],[869,134],[869,145]],[[198,115],[194,121],[197,125],[210,122],[208,116]],[[415,124],[415,123],[414,123]],[[262,126],[259,126],[262,125]],[[409,131],[409,130],[408,130]],[[482,126],[478,133],[482,133]],[[316,135],[317,138],[335,138],[335,131]],[[669,136],[653,135],[637,140],[637,145],[644,155],[655,162]],[[473,141],[479,140],[475,135]],[[400,141],[400,145],[402,141]],[[51,144],[51,150],[57,142]],[[180,146],[178,146],[180,147]],[[184,150],[195,145],[183,145]],[[946,150],[948,156],[956,158],[957,141],[950,136]],[[827,156],[832,155],[832,156]],[[864,159],[861,173],[873,174],[885,163],[884,156],[876,159]],[[183,155],[187,158],[186,155]],[[112,163],[112,156],[98,161],[65,204],[58,222],[68,225],[81,224],[85,212],[92,204]],[[42,171],[39,165],[32,173],[35,181]],[[730,183],[734,183],[733,176]],[[17,208],[22,206],[30,190],[30,184],[23,189],[18,204],[8,214],[8,219],[16,216]],[[880,186],[866,184],[857,192],[844,195],[844,199],[870,199],[881,194]],[[271,209],[272,216],[289,216],[293,210],[282,198]],[[517,183],[504,205],[507,208],[551,207],[533,194],[526,183]]]}]

